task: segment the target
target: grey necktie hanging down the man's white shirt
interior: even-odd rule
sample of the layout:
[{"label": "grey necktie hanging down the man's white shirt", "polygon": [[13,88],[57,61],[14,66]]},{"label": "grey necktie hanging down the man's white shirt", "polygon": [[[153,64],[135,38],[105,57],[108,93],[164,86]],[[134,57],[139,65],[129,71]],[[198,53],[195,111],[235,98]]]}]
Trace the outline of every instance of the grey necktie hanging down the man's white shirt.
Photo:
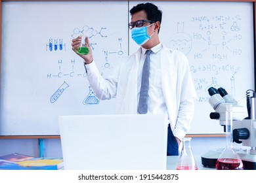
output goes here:
[{"label": "grey necktie hanging down the man's white shirt", "polygon": [[146,59],[142,69],[142,79],[140,87],[140,100],[138,112],[139,114],[146,114],[148,112],[148,85],[149,85],[149,69],[150,69],[150,54],[152,50],[146,50]]}]

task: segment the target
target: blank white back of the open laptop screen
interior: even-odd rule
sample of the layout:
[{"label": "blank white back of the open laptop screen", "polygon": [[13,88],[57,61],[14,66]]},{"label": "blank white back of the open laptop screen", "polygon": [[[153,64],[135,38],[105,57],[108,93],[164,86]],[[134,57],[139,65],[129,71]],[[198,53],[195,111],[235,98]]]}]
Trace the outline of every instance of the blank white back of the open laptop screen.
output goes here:
[{"label": "blank white back of the open laptop screen", "polygon": [[64,169],[165,170],[164,115],[59,116]]}]

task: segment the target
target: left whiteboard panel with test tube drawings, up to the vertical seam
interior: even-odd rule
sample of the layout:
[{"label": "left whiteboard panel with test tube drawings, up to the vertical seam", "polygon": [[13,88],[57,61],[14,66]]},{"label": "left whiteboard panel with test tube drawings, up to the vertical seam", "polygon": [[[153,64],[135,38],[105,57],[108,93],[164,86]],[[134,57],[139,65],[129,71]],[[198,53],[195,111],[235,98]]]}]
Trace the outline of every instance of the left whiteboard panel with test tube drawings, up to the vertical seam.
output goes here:
[{"label": "left whiteboard panel with test tube drawings, up to the vertical seam", "polygon": [[87,35],[107,75],[127,56],[127,16],[125,1],[3,2],[0,134],[58,135],[60,115],[113,114],[71,43]]}]

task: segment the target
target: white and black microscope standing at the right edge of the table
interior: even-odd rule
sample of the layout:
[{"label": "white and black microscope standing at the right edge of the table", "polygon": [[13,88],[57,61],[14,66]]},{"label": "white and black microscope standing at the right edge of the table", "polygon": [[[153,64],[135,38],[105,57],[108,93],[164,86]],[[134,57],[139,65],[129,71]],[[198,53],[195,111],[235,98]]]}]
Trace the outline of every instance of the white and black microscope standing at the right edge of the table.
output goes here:
[{"label": "white and black microscope standing at the right edge of the table", "polygon": [[[234,149],[244,163],[244,169],[256,169],[256,97],[253,90],[247,90],[247,109],[238,105],[238,102],[228,94],[224,88],[209,88],[209,104],[215,112],[209,115],[212,120],[219,120],[219,124],[224,126],[226,123],[226,105],[232,105],[232,139],[233,142],[242,146],[243,149]],[[252,95],[250,95],[250,92]],[[248,116],[247,116],[248,115]],[[247,117],[245,117],[247,116]],[[250,148],[250,149],[249,149]],[[215,167],[215,163],[223,149],[211,150],[202,155],[202,165],[204,167]]]}]

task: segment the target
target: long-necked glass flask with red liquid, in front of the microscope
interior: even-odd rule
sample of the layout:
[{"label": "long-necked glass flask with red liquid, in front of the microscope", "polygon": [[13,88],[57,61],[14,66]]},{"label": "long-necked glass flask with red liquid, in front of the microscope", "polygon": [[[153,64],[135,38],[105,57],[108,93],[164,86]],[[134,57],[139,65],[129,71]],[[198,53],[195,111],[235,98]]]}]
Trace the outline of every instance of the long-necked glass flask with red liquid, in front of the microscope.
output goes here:
[{"label": "long-necked glass flask with red liquid, in front of the microscope", "polygon": [[217,159],[217,170],[243,170],[244,164],[232,147],[232,105],[226,105],[226,148]]}]

